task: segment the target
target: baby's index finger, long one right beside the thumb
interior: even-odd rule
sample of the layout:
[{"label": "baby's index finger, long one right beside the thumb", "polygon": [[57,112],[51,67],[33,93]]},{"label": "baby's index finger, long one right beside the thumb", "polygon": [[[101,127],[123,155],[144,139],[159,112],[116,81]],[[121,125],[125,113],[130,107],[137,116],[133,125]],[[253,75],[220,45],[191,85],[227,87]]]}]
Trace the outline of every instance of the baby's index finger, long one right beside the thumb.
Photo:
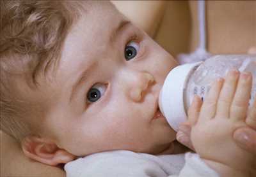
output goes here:
[{"label": "baby's index finger, long one right beside the thumb", "polygon": [[223,86],[224,79],[218,78],[218,80],[212,83],[211,89],[205,97],[204,103],[200,111],[200,118],[213,118],[216,113],[216,105],[220,96],[220,91]]}]

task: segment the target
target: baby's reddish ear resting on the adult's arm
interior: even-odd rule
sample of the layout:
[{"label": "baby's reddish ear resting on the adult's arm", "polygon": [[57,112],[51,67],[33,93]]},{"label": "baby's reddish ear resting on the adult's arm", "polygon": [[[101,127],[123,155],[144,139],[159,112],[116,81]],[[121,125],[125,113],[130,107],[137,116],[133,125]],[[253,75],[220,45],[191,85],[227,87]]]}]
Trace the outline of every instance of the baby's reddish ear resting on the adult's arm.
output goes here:
[{"label": "baby's reddish ear resting on the adult's arm", "polygon": [[50,166],[65,164],[76,159],[75,155],[58,148],[55,143],[44,138],[27,136],[22,140],[21,146],[27,157]]}]

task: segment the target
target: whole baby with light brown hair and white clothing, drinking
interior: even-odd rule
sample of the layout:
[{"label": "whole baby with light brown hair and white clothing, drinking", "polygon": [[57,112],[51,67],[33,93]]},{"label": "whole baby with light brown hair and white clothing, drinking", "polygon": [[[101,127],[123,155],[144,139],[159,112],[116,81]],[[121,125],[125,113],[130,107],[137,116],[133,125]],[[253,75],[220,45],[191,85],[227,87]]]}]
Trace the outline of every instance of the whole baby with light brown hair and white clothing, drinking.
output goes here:
[{"label": "whole baby with light brown hair and white clothing, drinking", "polygon": [[180,167],[154,156],[173,150],[176,133],[157,99],[177,62],[145,32],[108,1],[2,1],[1,13],[1,129],[29,158],[66,164],[67,176],[253,173],[255,157],[232,141],[255,122],[256,103],[246,114],[250,74],[216,81],[203,105],[195,97],[198,155],[185,164],[170,155]]}]

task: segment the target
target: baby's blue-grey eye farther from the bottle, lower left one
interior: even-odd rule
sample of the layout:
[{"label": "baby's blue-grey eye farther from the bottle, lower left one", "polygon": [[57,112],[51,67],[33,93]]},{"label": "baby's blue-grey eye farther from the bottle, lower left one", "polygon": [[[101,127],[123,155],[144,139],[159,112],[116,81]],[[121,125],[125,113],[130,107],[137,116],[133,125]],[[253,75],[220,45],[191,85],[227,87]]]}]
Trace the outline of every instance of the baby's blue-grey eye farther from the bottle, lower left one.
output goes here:
[{"label": "baby's blue-grey eye farther from the bottle, lower left one", "polygon": [[87,100],[90,103],[98,101],[101,96],[103,96],[104,92],[106,91],[106,85],[103,83],[97,83],[90,88],[89,92],[87,93]]}]

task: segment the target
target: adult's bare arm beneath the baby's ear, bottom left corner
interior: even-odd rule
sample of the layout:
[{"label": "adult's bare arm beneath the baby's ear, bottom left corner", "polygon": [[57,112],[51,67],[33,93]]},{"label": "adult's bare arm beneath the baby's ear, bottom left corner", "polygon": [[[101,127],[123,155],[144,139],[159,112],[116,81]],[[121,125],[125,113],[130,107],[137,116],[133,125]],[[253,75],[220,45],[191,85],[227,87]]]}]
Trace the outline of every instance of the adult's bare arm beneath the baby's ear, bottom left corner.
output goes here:
[{"label": "adult's bare arm beneath the baby's ear, bottom left corner", "polygon": [[1,175],[7,176],[37,176],[37,177],[65,177],[65,171],[58,167],[47,166],[32,161],[26,157],[19,143],[12,137],[0,131],[1,136]]}]

